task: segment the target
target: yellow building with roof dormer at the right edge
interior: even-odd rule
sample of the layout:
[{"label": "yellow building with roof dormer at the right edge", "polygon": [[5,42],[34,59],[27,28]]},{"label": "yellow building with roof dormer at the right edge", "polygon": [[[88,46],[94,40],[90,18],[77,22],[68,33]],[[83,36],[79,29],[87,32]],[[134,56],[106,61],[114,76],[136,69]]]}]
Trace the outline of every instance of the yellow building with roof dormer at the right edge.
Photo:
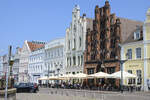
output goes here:
[{"label": "yellow building with roof dormer at the right edge", "polygon": [[136,84],[147,91],[150,87],[150,9],[143,26],[137,26],[121,45],[121,59],[127,59],[123,70],[137,76],[137,79],[124,80],[124,85]]}]

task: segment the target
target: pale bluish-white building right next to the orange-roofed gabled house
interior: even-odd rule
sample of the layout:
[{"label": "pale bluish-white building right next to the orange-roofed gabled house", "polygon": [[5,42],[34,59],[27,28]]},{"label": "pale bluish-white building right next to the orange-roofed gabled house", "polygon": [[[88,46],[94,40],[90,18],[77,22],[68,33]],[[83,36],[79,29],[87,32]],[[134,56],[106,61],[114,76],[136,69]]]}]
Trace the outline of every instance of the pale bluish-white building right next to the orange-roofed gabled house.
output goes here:
[{"label": "pale bluish-white building right next to the orange-roofed gabled house", "polygon": [[39,83],[38,78],[44,76],[44,47],[31,52],[29,57],[28,74],[29,81]]}]

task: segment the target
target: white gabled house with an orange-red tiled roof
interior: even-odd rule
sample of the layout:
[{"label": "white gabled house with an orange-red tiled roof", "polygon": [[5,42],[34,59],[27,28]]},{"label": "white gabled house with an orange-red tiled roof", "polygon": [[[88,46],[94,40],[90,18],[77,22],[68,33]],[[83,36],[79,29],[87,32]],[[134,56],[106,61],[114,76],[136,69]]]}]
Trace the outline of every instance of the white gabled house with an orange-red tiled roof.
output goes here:
[{"label": "white gabled house with an orange-red tiled roof", "polygon": [[24,45],[20,51],[20,61],[19,61],[19,82],[28,82],[29,81],[29,75],[28,75],[28,64],[29,64],[29,56],[30,53],[40,48],[44,45],[43,42],[38,41],[25,41]]}]

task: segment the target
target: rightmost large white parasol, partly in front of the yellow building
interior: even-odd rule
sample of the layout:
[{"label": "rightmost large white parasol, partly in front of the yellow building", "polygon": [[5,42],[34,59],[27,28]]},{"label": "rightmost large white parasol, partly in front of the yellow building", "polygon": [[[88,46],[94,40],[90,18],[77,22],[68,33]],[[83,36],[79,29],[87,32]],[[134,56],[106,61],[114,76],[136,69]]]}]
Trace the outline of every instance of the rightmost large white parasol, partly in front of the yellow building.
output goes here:
[{"label": "rightmost large white parasol, partly in front of the yellow building", "polygon": [[[123,75],[123,79],[125,78],[136,78],[137,76],[134,74],[130,74],[126,71],[122,71],[122,75]],[[121,71],[115,72],[113,74],[110,75],[112,78],[118,78],[121,79]]]}]

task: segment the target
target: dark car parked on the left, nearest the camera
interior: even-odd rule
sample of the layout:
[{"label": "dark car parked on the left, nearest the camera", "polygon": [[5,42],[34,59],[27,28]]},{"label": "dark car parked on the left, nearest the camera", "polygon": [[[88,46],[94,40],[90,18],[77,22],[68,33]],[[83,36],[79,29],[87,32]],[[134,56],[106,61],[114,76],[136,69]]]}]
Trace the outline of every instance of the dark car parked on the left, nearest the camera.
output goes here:
[{"label": "dark car parked on the left, nearest the camera", "polygon": [[18,85],[15,85],[14,88],[16,88],[17,93],[19,92],[36,93],[37,91],[34,85],[31,85],[30,83],[19,83]]}]

